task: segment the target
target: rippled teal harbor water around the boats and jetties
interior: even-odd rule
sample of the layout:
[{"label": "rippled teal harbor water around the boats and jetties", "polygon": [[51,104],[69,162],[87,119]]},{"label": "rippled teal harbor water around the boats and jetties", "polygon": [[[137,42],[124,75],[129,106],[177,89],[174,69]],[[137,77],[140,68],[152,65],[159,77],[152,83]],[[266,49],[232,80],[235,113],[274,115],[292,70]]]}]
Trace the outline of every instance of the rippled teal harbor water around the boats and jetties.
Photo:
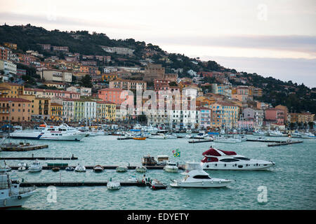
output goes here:
[{"label": "rippled teal harbor water around the boats and jetties", "polygon": [[[251,135],[249,139],[256,139]],[[267,137],[283,140],[284,137]],[[298,140],[298,139],[296,139]],[[300,139],[301,140],[301,139]],[[19,142],[21,140],[13,140]],[[0,157],[71,157],[78,160],[40,160],[94,165],[140,165],[144,155],[169,155],[175,162],[199,162],[202,153],[210,146],[224,151],[235,151],[247,158],[275,162],[268,171],[206,171],[214,178],[235,180],[228,188],[171,188],[151,190],[148,187],[126,186],[120,190],[98,187],[57,187],[56,202],[48,202],[47,188],[38,188],[37,193],[25,202],[22,209],[316,209],[316,139],[303,139],[302,144],[268,147],[268,143],[243,141],[237,144],[205,142],[188,144],[187,139],[146,139],[145,141],[118,141],[116,136],[86,137],[81,141],[27,141],[30,144],[48,144],[48,148],[25,152],[0,152]],[[180,151],[180,157],[173,158],[173,150]],[[26,160],[6,160],[9,166],[17,166]],[[3,161],[1,161],[3,165]],[[95,173],[17,172],[24,181],[128,181],[135,176],[135,170],[117,173],[105,169]],[[183,179],[178,174],[162,169],[147,170],[146,177],[158,179],[169,186],[171,179]],[[143,174],[136,174],[142,178]],[[263,186],[263,187],[261,187]],[[267,202],[260,202],[260,189],[267,189]]]}]

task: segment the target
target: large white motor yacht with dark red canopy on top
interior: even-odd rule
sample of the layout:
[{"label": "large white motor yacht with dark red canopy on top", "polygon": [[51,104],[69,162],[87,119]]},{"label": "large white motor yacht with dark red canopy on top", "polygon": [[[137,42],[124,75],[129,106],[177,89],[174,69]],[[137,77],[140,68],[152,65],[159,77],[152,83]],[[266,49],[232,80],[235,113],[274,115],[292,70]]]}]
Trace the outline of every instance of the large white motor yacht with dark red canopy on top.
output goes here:
[{"label": "large white motor yacht with dark red canopy on top", "polygon": [[262,170],[275,165],[272,161],[251,160],[243,155],[237,155],[233,151],[222,151],[213,147],[202,155],[204,155],[203,160],[201,160],[203,169]]}]

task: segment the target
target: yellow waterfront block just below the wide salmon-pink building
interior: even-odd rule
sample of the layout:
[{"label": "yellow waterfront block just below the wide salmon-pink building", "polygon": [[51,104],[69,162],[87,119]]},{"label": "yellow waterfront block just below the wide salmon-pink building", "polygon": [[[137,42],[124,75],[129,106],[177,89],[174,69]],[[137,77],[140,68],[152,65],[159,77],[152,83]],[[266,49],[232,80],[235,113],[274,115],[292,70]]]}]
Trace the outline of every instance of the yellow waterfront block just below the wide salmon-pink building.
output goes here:
[{"label": "yellow waterfront block just below the wide salmon-pink building", "polygon": [[97,120],[116,120],[117,105],[112,102],[97,102]]}]

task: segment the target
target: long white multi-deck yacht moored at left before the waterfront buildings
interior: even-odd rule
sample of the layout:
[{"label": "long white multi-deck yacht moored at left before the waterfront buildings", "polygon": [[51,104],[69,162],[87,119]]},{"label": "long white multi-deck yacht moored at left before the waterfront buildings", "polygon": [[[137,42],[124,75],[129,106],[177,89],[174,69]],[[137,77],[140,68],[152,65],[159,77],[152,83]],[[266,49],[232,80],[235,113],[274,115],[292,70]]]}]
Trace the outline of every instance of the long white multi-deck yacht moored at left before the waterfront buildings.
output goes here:
[{"label": "long white multi-deck yacht moored at left before the waterfront buildings", "polygon": [[36,140],[67,140],[80,141],[85,134],[78,132],[66,124],[59,126],[39,125],[34,130],[25,130],[10,133],[13,139],[36,139]]}]

